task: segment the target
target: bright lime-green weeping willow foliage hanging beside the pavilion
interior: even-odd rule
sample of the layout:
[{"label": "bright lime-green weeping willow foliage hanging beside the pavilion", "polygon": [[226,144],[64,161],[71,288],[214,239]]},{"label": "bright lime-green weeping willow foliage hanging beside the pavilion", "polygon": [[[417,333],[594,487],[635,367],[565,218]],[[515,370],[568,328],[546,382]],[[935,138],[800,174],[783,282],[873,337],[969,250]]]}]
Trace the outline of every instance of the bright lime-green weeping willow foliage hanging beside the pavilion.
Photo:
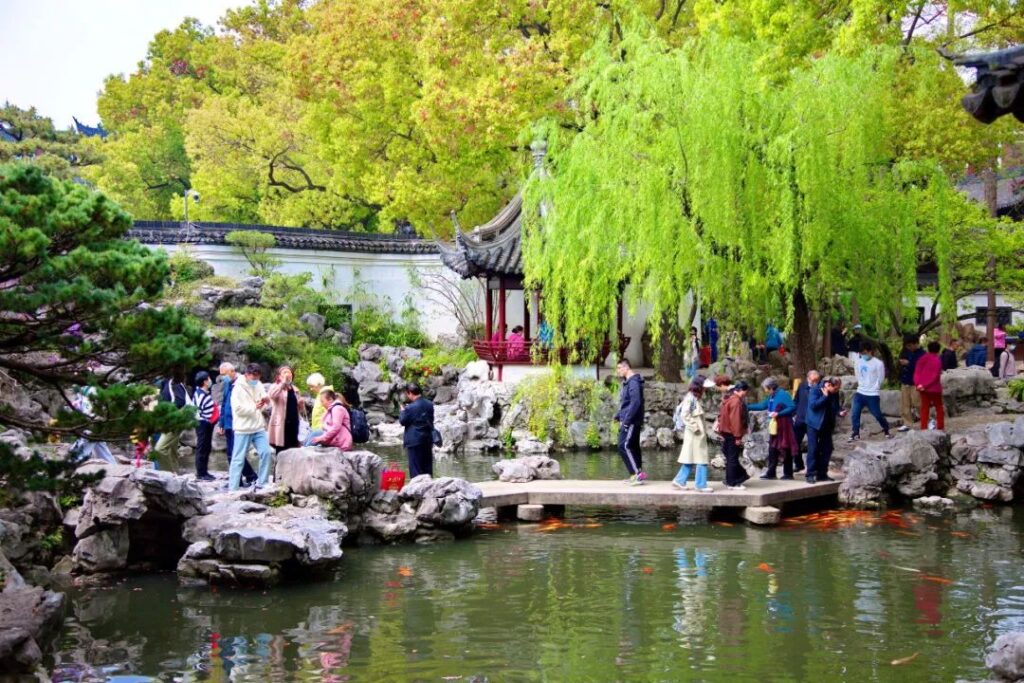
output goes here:
[{"label": "bright lime-green weeping willow foliage hanging beside the pavilion", "polygon": [[912,300],[921,248],[948,283],[957,200],[935,167],[894,159],[896,52],[829,53],[783,80],[758,76],[763,53],[640,31],[589,53],[578,128],[547,132],[550,172],[525,190],[525,274],[563,342],[603,337],[628,283],[651,322],[692,292],[731,325],[786,326],[802,372],[839,295],[864,315]]}]

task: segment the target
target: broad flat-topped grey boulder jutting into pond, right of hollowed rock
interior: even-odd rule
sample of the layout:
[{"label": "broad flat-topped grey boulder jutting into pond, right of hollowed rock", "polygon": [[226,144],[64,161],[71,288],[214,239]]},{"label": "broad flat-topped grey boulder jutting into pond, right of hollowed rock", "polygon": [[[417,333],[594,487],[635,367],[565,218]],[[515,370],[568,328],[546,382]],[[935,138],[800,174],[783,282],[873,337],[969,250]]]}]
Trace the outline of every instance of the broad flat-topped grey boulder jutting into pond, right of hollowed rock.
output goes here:
[{"label": "broad flat-topped grey boulder jutting into pond, right of hollowed rock", "polygon": [[185,523],[183,535],[190,545],[178,562],[178,578],[184,583],[274,584],[300,568],[335,566],[347,533],[345,524],[330,519],[321,506],[274,507],[221,494],[207,514]]}]

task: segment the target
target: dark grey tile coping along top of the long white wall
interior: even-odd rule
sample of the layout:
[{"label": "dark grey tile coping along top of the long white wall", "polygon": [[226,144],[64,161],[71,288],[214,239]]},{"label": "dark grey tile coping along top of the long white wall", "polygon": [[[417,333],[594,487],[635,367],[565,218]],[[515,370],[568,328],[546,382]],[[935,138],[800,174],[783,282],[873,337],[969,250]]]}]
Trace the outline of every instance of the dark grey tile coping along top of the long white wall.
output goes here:
[{"label": "dark grey tile coping along top of the long white wall", "polygon": [[346,232],[308,227],[279,227],[244,223],[193,223],[136,220],[128,237],[150,245],[222,245],[232,230],[255,230],[274,237],[278,247],[312,251],[360,252],[375,254],[436,254],[437,245],[415,236],[379,232]]}]

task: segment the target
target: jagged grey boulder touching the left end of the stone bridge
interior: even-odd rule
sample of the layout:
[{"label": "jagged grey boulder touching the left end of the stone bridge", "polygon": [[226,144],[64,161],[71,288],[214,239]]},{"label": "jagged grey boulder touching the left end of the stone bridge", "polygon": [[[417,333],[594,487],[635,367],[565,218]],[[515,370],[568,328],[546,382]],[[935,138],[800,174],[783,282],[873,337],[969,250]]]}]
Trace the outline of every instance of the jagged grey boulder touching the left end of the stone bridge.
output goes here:
[{"label": "jagged grey boulder touching the left end of the stone bridge", "polygon": [[482,493],[464,479],[421,474],[398,493],[381,492],[364,515],[364,540],[427,543],[472,529]]}]

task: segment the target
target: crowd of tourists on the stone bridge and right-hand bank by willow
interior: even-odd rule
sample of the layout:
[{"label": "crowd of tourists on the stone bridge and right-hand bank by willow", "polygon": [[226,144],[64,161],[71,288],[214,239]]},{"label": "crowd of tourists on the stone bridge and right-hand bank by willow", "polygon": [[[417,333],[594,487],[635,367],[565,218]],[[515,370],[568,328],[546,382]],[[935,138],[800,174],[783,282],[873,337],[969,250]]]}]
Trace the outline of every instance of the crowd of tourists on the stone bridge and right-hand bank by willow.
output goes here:
[{"label": "crowd of tourists on the stone bridge and right-hand bank by willow", "polygon": [[[713,347],[713,352],[717,356],[717,324],[714,331],[716,347]],[[706,328],[706,338],[710,338],[711,335],[707,332]],[[995,335],[997,346],[991,373],[997,378],[1012,378],[1016,375],[1015,345],[1007,341],[1001,326],[996,328]],[[743,489],[743,482],[750,475],[740,465],[739,458],[743,437],[750,430],[751,412],[764,412],[768,419],[768,459],[762,479],[792,480],[796,474],[804,472],[808,483],[831,481],[828,465],[833,456],[833,437],[839,420],[848,414],[851,417],[849,441],[860,440],[861,418],[865,410],[878,422],[885,438],[893,438],[891,426],[882,413],[886,365],[878,357],[879,345],[864,335],[859,325],[855,325],[852,331],[844,326],[837,326],[833,330],[830,342],[836,353],[849,354],[853,360],[857,388],[849,409],[842,402],[842,379],[822,377],[817,370],[808,372],[805,381],[795,383],[795,395],[779,386],[778,380],[769,377],[761,384],[764,397],[759,401],[749,402],[746,396],[750,386],[746,382],[732,382],[725,376],[708,379],[697,374],[701,367],[701,348],[696,328],[691,329],[684,351],[685,372],[690,383],[673,416],[676,431],[683,433],[683,445],[678,458],[680,468],[672,484],[684,489],[693,474],[695,490],[713,490],[708,485],[708,442],[714,438],[720,441],[725,458],[726,487]],[[982,338],[967,352],[965,360],[968,366],[985,366],[986,342]],[[767,362],[770,353],[784,353],[783,343],[781,333],[769,325],[763,343],[750,340],[752,358]],[[942,373],[958,367],[961,344],[954,340],[943,348],[939,342],[931,341],[925,344],[924,349],[921,344],[918,337],[908,336],[904,339],[903,349],[899,354],[902,424],[898,431],[908,431],[915,422],[922,430],[945,429]],[[618,453],[629,472],[626,483],[641,485],[647,479],[640,447],[640,433],[644,422],[644,381],[625,358],[618,361],[616,374],[623,380],[620,409],[615,414],[615,420],[620,423]],[[705,392],[708,390],[723,394],[718,418],[710,430],[703,408]],[[806,465],[802,456],[805,439]],[[781,476],[778,475],[780,464]]]}]

